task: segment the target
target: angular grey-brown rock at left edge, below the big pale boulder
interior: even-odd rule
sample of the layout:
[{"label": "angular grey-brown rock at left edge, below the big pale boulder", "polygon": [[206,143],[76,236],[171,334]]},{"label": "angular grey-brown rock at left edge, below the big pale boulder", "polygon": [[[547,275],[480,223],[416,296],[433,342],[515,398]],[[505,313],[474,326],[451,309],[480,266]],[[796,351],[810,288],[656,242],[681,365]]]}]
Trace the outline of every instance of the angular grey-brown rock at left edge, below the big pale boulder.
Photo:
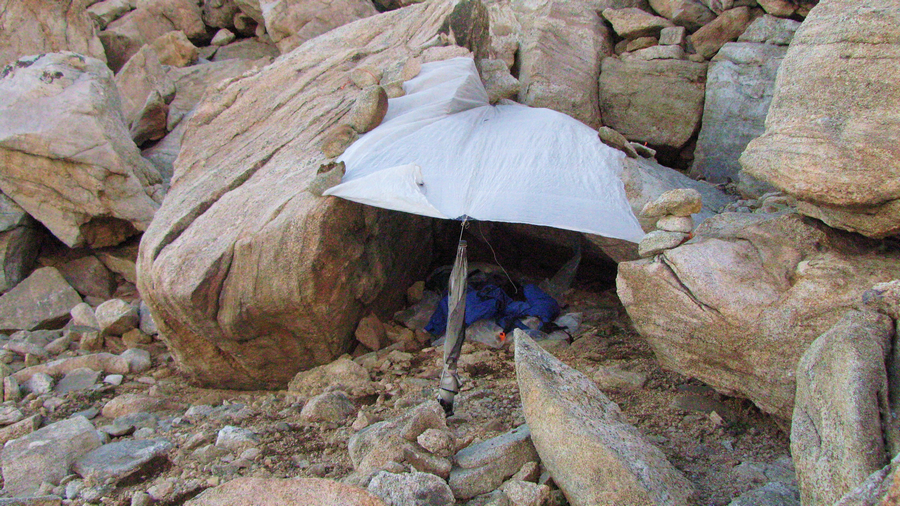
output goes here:
[{"label": "angular grey-brown rock at left edge, below the big pale boulder", "polygon": [[80,303],[58,270],[43,267],[0,297],[0,331],[59,328]]}]

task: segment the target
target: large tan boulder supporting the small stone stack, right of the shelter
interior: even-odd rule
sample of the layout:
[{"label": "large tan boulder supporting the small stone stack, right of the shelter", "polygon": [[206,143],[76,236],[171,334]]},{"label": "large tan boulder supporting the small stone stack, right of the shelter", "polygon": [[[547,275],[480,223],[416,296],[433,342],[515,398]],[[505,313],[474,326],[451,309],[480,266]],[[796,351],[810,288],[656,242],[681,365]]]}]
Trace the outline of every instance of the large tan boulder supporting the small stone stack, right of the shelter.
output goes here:
[{"label": "large tan boulder supporting the small stone stack, right of the shelter", "polygon": [[801,355],[900,276],[898,260],[796,213],[725,213],[682,246],[620,263],[617,290],[663,367],[789,420]]}]

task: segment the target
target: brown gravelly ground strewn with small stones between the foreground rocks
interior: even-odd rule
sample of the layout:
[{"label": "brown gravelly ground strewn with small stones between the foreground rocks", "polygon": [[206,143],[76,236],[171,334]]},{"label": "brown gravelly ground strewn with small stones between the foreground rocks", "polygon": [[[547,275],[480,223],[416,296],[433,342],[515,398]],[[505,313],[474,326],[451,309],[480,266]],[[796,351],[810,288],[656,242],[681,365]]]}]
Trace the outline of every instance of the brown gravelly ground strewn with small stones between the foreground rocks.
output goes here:
[{"label": "brown gravelly ground strewn with small stones between the foreground rocks", "polygon": [[[546,341],[545,348],[619,404],[627,421],[694,484],[697,504],[728,504],[770,481],[795,486],[788,438],[774,419],[748,401],[662,370],[609,286],[583,285],[567,299],[566,310],[581,313],[583,324],[573,344]],[[113,347],[121,343],[107,341]],[[434,347],[396,346],[358,357],[377,383],[375,393],[353,398],[354,413],[343,422],[311,423],[301,415],[308,400],[303,395],[199,388],[178,373],[162,342],[139,347],[150,351],[152,367],[125,375],[119,385],[100,379],[85,390],[31,393],[5,406],[23,417],[42,415],[44,425],[84,414],[110,442],[164,438],[171,448],[115,486],[73,474],[41,492],[68,496],[72,504],[181,504],[241,476],[341,480],[354,470],[351,436],[433,399],[442,357]],[[447,420],[457,448],[525,423],[508,342],[501,348],[467,343],[460,364],[465,384]],[[553,497],[565,504],[561,494]]]}]

